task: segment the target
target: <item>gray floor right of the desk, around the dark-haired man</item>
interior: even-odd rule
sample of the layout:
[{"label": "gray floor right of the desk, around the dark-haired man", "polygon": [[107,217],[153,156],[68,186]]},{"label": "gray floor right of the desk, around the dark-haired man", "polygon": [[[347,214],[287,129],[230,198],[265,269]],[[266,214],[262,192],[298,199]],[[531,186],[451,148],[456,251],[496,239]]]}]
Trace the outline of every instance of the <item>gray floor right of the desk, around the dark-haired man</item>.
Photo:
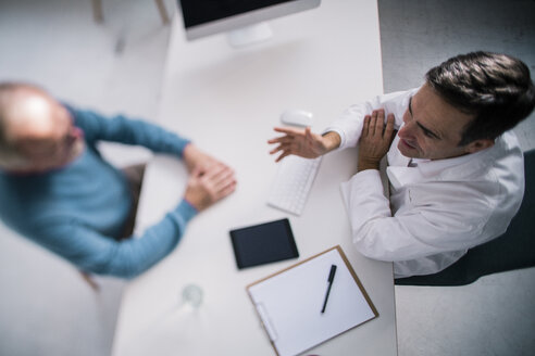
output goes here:
[{"label": "gray floor right of the desk, around the dark-haired man", "polygon": [[[535,2],[378,0],[385,92],[474,50],[505,52],[535,73]],[[535,114],[515,129],[535,148]],[[396,287],[400,356],[533,355],[535,268],[456,288]]]}]

